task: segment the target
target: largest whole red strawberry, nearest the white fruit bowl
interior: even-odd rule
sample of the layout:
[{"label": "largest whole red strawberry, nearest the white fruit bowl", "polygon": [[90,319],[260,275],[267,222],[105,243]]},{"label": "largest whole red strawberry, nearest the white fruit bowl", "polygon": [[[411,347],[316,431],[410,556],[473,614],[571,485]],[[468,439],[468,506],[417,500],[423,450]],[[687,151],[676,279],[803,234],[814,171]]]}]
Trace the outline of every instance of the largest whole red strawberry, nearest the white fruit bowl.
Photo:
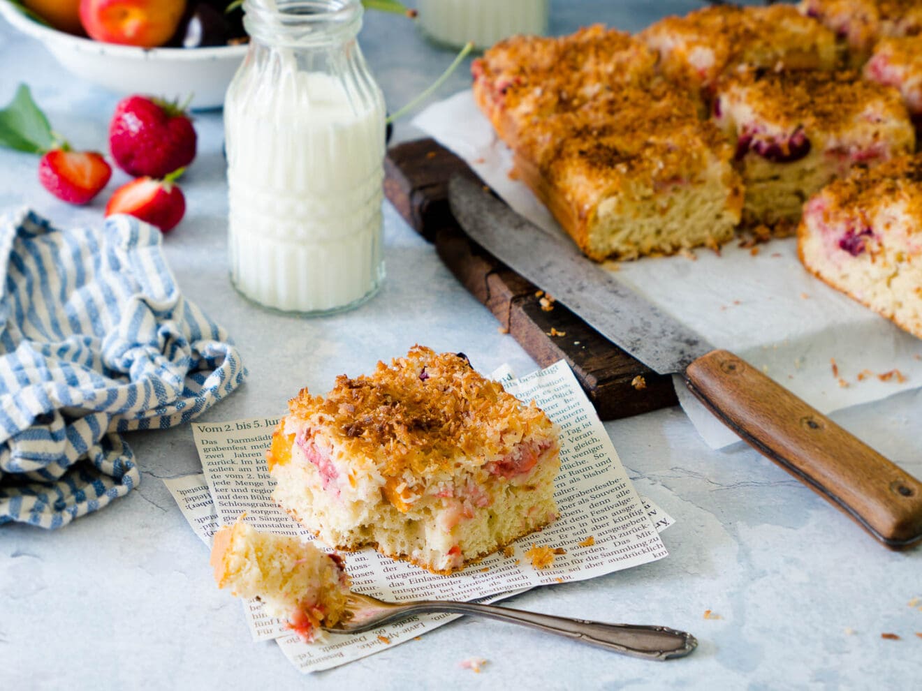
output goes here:
[{"label": "largest whole red strawberry, nearest the white fruit bowl", "polygon": [[195,128],[176,103],[129,96],[115,106],[109,147],[129,175],[162,178],[195,158]]}]

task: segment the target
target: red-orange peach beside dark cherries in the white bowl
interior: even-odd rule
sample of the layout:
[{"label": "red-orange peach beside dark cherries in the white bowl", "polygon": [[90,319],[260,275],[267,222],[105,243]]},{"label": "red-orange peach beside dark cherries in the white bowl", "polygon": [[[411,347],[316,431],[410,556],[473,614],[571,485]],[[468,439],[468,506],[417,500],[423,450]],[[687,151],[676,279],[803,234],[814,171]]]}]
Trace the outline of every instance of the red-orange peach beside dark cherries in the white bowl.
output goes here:
[{"label": "red-orange peach beside dark cherries in the white bowl", "polygon": [[80,21],[91,39],[155,48],[170,41],[185,0],[80,0]]}]

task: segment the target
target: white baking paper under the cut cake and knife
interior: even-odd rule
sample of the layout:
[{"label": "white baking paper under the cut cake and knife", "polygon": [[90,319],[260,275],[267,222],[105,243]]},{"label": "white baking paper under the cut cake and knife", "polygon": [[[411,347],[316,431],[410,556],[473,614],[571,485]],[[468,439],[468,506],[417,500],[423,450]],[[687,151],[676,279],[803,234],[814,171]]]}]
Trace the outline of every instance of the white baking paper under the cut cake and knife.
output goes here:
[{"label": "white baking paper under the cut cake and knife", "polygon": [[[413,124],[464,158],[519,214],[563,235],[526,185],[509,177],[511,153],[470,91],[431,105]],[[822,413],[922,386],[922,341],[808,274],[793,238],[759,245],[756,254],[732,242],[720,255],[694,256],[607,265],[660,309]],[[676,390],[708,444],[739,440],[680,381]]]}]

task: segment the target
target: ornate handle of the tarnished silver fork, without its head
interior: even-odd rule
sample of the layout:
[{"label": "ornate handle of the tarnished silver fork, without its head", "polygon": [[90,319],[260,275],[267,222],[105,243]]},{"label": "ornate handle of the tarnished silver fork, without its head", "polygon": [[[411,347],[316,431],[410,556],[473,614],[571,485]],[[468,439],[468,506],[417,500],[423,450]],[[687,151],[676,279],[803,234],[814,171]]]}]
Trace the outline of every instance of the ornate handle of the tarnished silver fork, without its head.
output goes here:
[{"label": "ornate handle of the tarnished silver fork, without its head", "polygon": [[427,612],[482,616],[511,624],[521,624],[524,627],[538,628],[541,631],[646,660],[669,660],[684,657],[698,645],[698,641],[691,634],[668,627],[603,624],[585,619],[523,612],[491,604],[424,600],[400,607],[401,616]]}]

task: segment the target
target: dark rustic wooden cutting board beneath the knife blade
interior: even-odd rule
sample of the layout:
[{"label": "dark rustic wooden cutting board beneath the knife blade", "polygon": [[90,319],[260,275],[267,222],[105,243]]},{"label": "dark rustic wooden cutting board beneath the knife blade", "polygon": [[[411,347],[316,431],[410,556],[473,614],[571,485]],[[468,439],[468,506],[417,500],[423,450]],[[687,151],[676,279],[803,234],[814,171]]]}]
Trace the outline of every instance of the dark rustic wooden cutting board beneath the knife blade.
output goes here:
[{"label": "dark rustic wooden cutting board beneath the knife blade", "polygon": [[603,420],[677,403],[670,377],[656,374],[562,305],[542,309],[537,286],[467,238],[449,209],[448,181],[461,174],[483,182],[461,158],[433,139],[418,139],[392,147],[384,170],[384,193],[400,215],[435,245],[443,263],[499,320],[499,328],[541,367],[567,361]]}]

